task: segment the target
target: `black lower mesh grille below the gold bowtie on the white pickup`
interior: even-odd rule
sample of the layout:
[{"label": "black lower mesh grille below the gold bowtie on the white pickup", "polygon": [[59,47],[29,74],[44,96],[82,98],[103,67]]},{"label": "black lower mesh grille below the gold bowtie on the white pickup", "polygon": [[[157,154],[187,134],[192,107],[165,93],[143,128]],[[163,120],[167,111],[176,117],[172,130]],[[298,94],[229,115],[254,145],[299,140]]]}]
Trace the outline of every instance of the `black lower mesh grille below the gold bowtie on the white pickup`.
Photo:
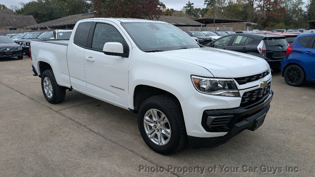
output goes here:
[{"label": "black lower mesh grille below the gold bowtie on the white pickup", "polygon": [[271,82],[266,87],[258,88],[249,92],[245,92],[242,96],[241,107],[248,107],[260,103],[265,100],[270,93]]}]

